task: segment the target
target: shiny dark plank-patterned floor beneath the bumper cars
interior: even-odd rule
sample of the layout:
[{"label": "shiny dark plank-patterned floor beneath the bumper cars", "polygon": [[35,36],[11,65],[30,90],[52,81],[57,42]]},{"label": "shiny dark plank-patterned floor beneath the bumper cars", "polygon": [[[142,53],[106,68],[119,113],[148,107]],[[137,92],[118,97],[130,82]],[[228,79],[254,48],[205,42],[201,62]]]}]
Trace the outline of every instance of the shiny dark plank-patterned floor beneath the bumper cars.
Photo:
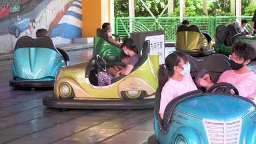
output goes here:
[{"label": "shiny dark plank-patterned floor beneath the bumper cars", "polygon": [[[68,55],[69,64],[84,62],[92,49]],[[53,89],[9,87],[11,63],[0,61],[0,143],[147,143],[154,134],[153,109],[48,109],[42,98]],[[256,70],[256,61],[250,69]]]}]

